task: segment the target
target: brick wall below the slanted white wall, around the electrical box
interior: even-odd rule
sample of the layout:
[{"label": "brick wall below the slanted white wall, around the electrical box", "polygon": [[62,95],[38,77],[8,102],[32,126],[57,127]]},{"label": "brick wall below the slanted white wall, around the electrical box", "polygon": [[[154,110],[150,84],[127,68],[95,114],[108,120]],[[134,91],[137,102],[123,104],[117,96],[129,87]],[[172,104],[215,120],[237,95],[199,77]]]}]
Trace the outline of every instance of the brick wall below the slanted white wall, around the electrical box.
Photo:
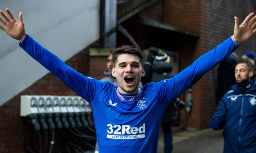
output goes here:
[{"label": "brick wall below the slanted white wall, around the electrical box", "polygon": [[[90,47],[98,47],[98,43],[92,44]],[[74,68],[83,75],[89,76],[89,49],[86,48],[78,54],[69,59],[66,64]],[[23,90],[21,93],[13,97],[0,107],[0,152],[1,153],[25,153],[22,147],[23,134],[26,127],[26,119],[20,117],[20,95],[77,95],[74,91],[69,89],[59,78],[53,76],[51,73],[45,75],[33,85]],[[86,129],[83,129],[86,132]],[[32,151],[29,136],[31,125],[28,126],[26,134],[26,148]],[[57,130],[56,130],[57,131]],[[42,140],[44,140],[44,133],[42,133]],[[50,137],[48,138],[51,139]],[[77,138],[72,138],[76,142]],[[37,134],[34,132],[33,142],[35,148],[38,149]],[[42,141],[44,145],[44,141]],[[63,148],[60,133],[56,132],[56,143],[59,144],[59,149],[66,152]],[[79,143],[78,143],[79,144]],[[80,145],[82,146],[82,145]],[[86,148],[84,149],[91,149]],[[57,152],[53,149],[53,152]]]}]

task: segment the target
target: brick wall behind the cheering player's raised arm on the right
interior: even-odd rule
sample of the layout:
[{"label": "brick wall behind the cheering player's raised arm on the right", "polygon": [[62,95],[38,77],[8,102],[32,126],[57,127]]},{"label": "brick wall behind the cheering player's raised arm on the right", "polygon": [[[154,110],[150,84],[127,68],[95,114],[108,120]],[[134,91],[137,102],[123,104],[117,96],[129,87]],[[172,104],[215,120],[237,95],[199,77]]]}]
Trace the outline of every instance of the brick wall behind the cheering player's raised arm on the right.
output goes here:
[{"label": "brick wall behind the cheering player's raised arm on the right", "polygon": [[[241,24],[249,13],[255,12],[254,1],[239,0],[165,0],[164,6],[165,23],[199,34],[195,50],[181,52],[180,70],[191,64],[189,63],[191,60],[197,59],[233,35],[234,16],[238,17]],[[256,46],[253,42],[255,42],[255,36],[241,44],[236,51],[238,56],[241,57],[249,50],[255,51]],[[216,110],[217,67],[192,87],[194,103],[192,113],[188,116],[187,127],[196,129],[208,127],[208,122]],[[182,97],[185,98],[186,95],[181,95]],[[185,114],[182,112],[180,119],[185,120]]]}]

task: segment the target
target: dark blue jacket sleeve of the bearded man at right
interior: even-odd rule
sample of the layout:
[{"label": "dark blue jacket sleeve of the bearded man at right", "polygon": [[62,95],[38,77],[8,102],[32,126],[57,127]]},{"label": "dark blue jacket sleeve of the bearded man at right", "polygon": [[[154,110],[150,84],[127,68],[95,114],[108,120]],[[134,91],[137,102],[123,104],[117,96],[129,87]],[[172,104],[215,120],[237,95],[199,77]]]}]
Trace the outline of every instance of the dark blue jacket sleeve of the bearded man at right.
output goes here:
[{"label": "dark blue jacket sleeve of the bearded man at right", "polygon": [[223,100],[219,102],[217,111],[209,122],[209,126],[214,130],[222,129],[226,125],[226,104]]}]

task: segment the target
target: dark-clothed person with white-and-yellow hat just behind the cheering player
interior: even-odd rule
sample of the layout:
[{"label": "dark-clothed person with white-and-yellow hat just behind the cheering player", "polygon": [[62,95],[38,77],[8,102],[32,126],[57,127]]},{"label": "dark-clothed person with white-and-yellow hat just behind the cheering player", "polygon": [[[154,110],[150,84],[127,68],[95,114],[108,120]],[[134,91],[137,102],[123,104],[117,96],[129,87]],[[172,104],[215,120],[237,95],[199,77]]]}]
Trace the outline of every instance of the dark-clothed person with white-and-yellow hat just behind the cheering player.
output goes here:
[{"label": "dark-clothed person with white-and-yellow hat just behind the cheering player", "polygon": [[[145,76],[143,83],[159,82],[161,80],[169,79],[174,76],[172,65],[170,64],[170,57],[155,47],[149,48],[150,54],[144,62]],[[154,62],[154,60],[156,60]],[[154,62],[154,63],[153,63]],[[172,125],[177,119],[176,110],[185,107],[185,103],[179,98],[176,98],[173,102],[165,107],[161,117],[161,124],[163,127],[165,153],[171,153],[173,150],[172,140]]]}]

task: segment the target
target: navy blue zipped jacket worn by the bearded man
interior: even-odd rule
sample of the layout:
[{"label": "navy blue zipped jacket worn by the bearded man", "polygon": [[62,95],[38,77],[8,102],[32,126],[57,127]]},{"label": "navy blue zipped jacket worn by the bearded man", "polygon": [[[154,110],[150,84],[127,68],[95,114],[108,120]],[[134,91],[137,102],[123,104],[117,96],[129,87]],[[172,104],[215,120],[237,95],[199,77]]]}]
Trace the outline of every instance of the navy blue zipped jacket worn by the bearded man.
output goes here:
[{"label": "navy blue zipped jacket worn by the bearded man", "polygon": [[224,153],[255,153],[256,82],[253,82],[245,94],[239,92],[236,85],[231,86],[231,89],[233,90],[222,97],[216,113],[210,120],[210,127],[219,130],[225,126]]}]

